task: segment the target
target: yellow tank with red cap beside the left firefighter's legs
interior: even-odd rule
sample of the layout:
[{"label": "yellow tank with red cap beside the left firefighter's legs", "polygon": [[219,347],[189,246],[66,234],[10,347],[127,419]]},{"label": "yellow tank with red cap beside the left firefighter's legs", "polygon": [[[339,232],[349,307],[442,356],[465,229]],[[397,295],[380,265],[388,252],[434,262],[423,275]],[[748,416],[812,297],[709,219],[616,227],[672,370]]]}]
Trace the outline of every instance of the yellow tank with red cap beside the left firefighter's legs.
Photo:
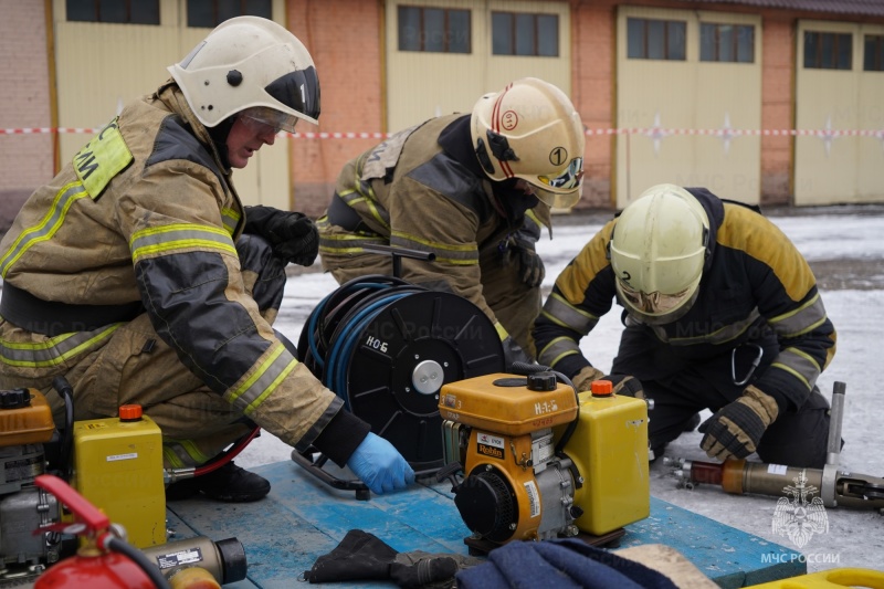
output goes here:
[{"label": "yellow tank with red cap beside the left firefighter's legs", "polygon": [[74,422],[73,486],[126,528],[129,544],[165,544],[162,434],[139,406],[123,406],[119,414]]}]

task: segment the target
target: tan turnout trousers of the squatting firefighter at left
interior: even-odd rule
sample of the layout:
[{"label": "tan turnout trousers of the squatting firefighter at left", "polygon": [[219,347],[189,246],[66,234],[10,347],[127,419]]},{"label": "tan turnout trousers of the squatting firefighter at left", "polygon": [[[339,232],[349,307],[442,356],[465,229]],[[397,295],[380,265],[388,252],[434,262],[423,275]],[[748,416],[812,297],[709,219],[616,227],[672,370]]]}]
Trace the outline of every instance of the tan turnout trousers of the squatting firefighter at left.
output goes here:
[{"label": "tan turnout trousers of the squatting firefighter at left", "polygon": [[[236,243],[246,290],[270,323],[276,317],[285,287],[284,264],[261,238],[242,235]],[[207,387],[159,338],[147,313],[133,320],[97,329],[109,336],[82,354],[57,354],[51,361],[4,364],[0,388],[35,388],[46,396],[56,427],[64,428],[64,401],[52,380],[64,376],[73,388],[74,420],[116,417],[122,404],[140,404],[162,431],[167,467],[196,466],[246,434],[254,424]],[[93,334],[84,334],[90,341]],[[281,334],[277,334],[281,335]],[[67,334],[65,334],[67,336]],[[51,338],[0,320],[0,340],[17,354],[34,350],[34,359],[53,354],[70,337]],[[284,337],[281,339],[294,349]],[[4,354],[6,356],[6,354]],[[21,356],[18,356],[21,357]]]}]

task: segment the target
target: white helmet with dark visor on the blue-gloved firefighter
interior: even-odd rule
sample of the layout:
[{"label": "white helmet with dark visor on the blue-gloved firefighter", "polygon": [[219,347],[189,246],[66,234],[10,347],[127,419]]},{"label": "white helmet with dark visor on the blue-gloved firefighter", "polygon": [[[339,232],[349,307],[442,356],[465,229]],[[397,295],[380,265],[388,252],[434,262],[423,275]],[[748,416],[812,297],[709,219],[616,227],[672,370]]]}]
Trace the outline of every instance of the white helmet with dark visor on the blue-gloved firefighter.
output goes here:
[{"label": "white helmet with dark visor on the blue-gloved firefighter", "polygon": [[245,111],[290,133],[319,117],[313,57],[291,31],[260,17],[219,24],[180,63],[168,67],[207,127]]}]

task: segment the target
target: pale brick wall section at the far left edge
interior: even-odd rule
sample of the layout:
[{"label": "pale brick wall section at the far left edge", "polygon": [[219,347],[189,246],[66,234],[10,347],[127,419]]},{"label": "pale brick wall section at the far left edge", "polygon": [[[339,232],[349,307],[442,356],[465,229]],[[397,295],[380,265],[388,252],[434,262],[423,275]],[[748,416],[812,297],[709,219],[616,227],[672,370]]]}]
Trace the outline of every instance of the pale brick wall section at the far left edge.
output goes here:
[{"label": "pale brick wall section at the far left edge", "polygon": [[[0,128],[50,127],[42,1],[0,0]],[[24,199],[54,173],[53,136],[0,135],[0,233]]]}]

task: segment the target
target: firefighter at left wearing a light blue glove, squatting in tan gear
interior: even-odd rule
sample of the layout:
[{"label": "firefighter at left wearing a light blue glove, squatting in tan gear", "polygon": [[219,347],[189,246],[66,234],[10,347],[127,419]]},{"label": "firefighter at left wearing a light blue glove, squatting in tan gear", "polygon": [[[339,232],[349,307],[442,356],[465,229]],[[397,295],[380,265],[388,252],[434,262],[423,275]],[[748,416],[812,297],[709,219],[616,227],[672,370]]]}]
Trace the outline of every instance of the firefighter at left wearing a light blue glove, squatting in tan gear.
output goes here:
[{"label": "firefighter at left wearing a light blue glove, squatting in tan gear", "polygon": [[[281,130],[316,123],[306,48],[256,17],[215,28],[157,92],[128,104],[25,202],[0,243],[0,388],[33,387],[74,419],[138,403],[167,466],[196,466],[257,424],[348,464],[372,491],[408,463],[298,364],[272,322],[287,263],[318,235],[301,213],[243,207],[231,169]],[[232,462],[167,490],[254,501],[270,483]]]}]

